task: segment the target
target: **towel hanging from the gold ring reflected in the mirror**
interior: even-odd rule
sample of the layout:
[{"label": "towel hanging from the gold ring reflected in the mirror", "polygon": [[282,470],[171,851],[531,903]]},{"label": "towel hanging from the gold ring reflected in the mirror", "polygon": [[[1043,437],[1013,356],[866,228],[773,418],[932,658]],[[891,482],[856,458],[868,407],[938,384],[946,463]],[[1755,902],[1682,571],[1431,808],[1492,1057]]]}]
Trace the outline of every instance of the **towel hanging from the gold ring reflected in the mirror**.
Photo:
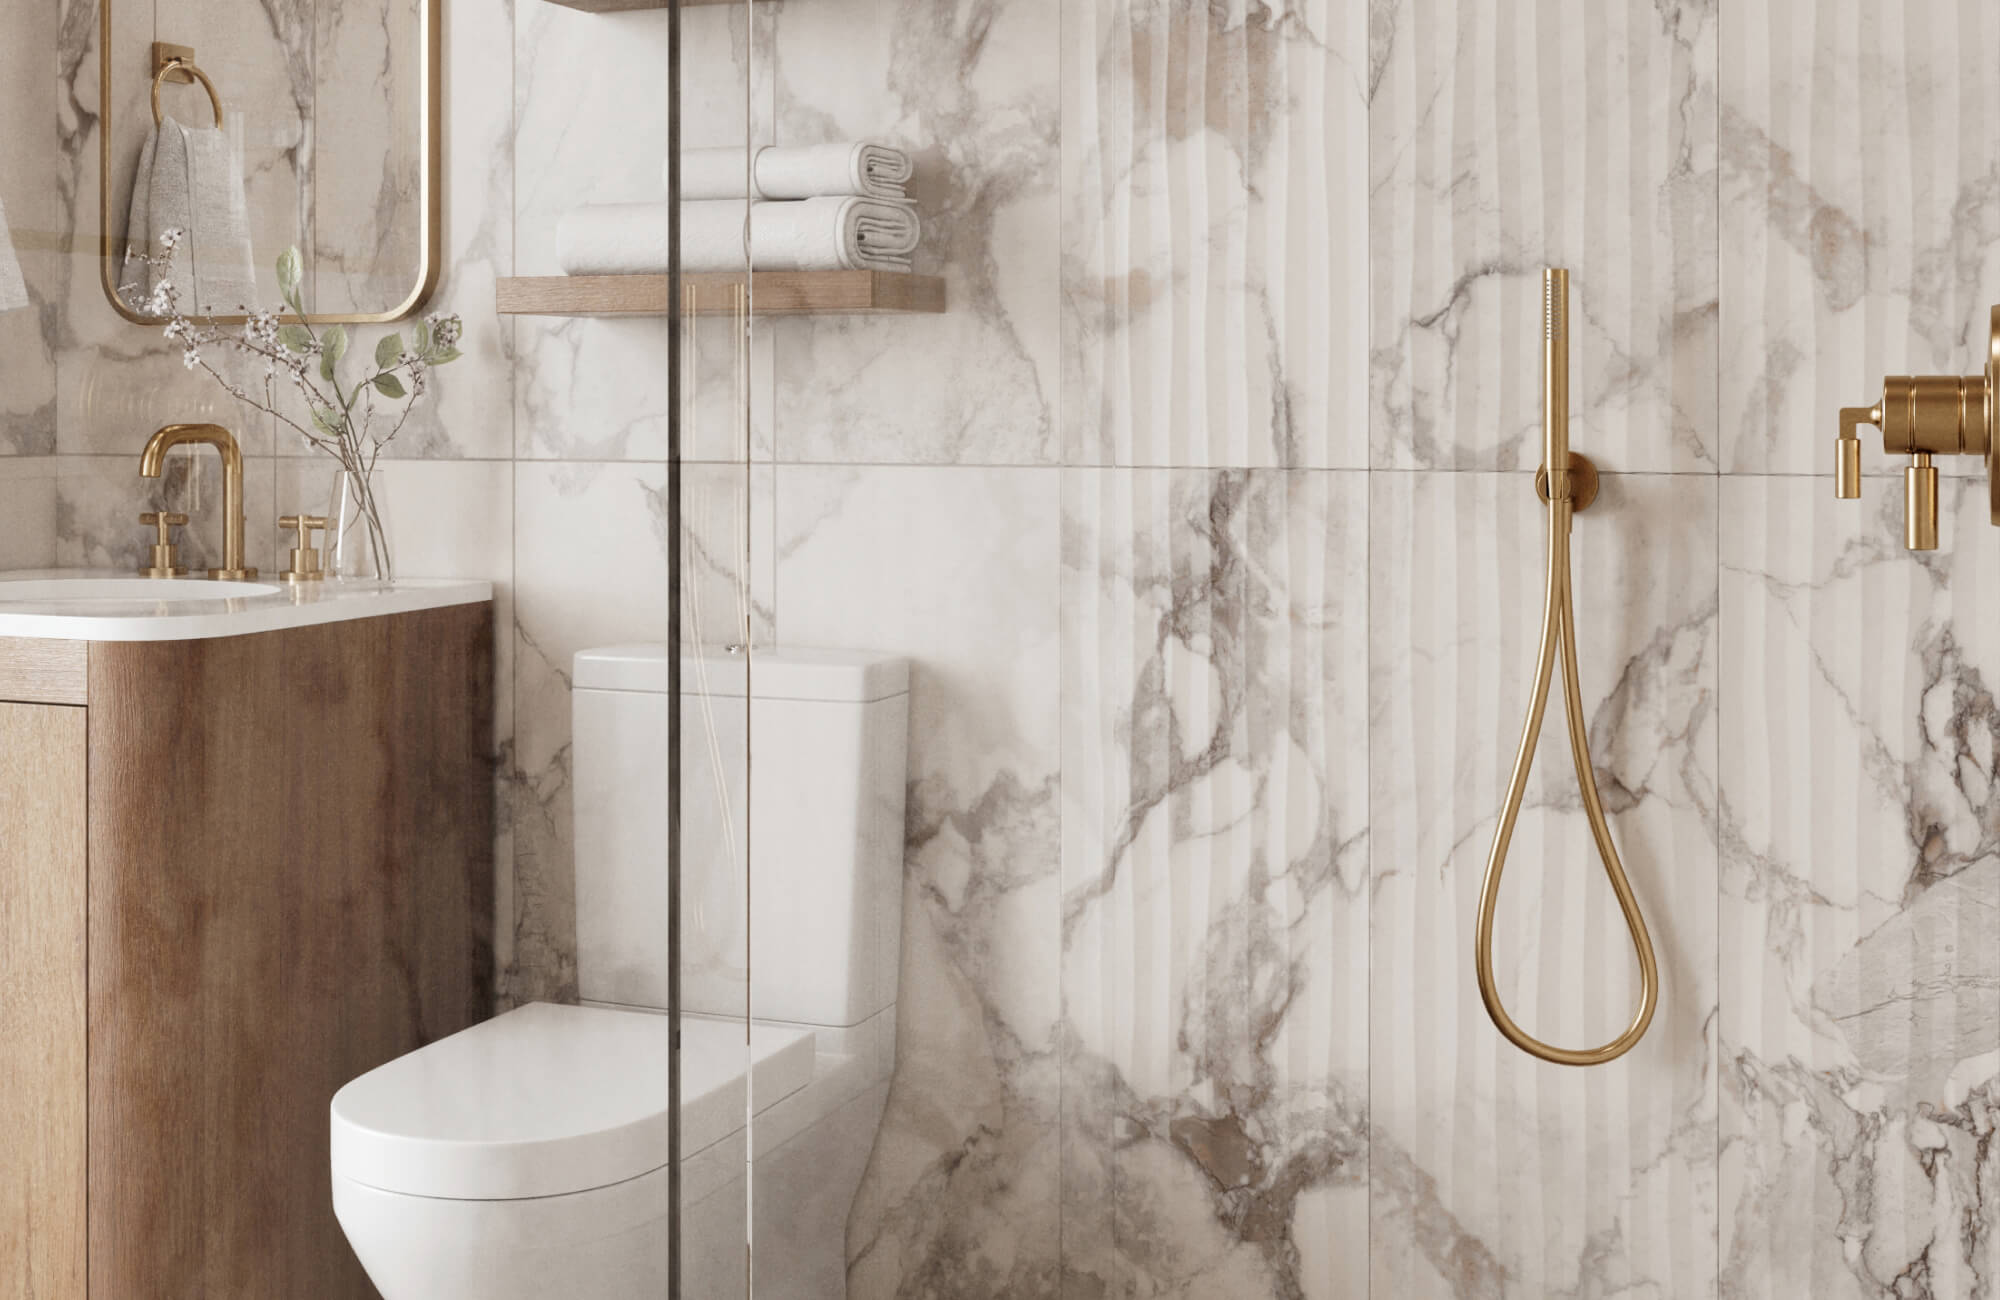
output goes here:
[{"label": "towel hanging from the gold ring reflected in the mirror", "polygon": [[[172,266],[154,268],[142,258],[160,256],[168,230],[182,232],[180,246]],[[160,280],[174,282],[180,310],[190,316],[234,316],[256,306],[242,154],[218,126],[166,118],[140,150],[118,284],[128,300],[144,300]]]}]

